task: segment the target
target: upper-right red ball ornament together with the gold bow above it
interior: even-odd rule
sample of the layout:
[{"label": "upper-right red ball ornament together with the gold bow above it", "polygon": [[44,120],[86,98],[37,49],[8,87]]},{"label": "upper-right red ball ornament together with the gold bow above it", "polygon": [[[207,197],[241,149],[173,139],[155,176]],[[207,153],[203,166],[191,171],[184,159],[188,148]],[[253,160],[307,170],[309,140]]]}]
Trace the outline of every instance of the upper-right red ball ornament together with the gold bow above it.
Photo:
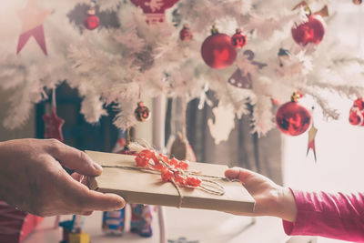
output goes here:
[{"label": "upper-right red ball ornament together with the gold bow above it", "polygon": [[306,2],[301,2],[294,9],[301,6],[307,12],[308,21],[292,27],[293,39],[300,46],[308,44],[319,45],[325,35],[325,22],[322,17],[329,15],[328,6],[325,5],[321,10],[313,14]]}]

